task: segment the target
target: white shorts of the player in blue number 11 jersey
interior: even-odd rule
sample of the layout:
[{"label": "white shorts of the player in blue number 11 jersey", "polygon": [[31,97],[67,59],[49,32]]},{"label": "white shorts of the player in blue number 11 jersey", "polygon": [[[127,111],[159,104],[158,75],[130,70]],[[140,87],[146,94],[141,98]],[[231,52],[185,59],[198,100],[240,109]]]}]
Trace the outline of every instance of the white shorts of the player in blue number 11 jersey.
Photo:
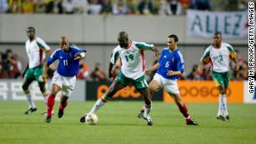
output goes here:
[{"label": "white shorts of the player in blue number 11 jersey", "polygon": [[70,97],[73,92],[73,88],[76,84],[76,76],[74,77],[63,77],[58,74],[58,72],[54,72],[52,83],[57,84],[61,87],[61,92],[65,97]]}]

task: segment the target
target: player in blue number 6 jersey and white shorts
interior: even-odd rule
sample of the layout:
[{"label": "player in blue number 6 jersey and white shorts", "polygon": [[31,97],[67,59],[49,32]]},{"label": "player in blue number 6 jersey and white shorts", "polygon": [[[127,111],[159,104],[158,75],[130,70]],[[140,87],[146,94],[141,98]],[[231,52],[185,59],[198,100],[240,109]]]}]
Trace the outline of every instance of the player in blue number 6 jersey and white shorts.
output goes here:
[{"label": "player in blue number 6 jersey and white shorts", "polygon": [[[159,89],[164,88],[168,94],[173,97],[174,102],[177,104],[179,111],[186,119],[187,125],[198,125],[198,122],[193,121],[189,116],[188,109],[178,91],[177,79],[182,75],[184,70],[184,60],[178,48],[178,37],[174,34],[169,35],[167,39],[168,47],[163,48],[162,55],[159,61],[146,70],[146,74],[157,70],[153,77],[153,81],[149,83],[149,90],[151,93],[157,92]],[[142,117],[143,110],[138,114]]]}]

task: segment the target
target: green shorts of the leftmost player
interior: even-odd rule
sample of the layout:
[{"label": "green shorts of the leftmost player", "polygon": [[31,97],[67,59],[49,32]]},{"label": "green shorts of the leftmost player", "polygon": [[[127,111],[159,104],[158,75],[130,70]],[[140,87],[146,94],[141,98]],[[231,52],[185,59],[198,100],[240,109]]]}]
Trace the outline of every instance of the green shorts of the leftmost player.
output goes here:
[{"label": "green shorts of the leftmost player", "polygon": [[25,78],[34,79],[37,82],[43,82],[42,73],[43,73],[43,67],[28,68]]}]

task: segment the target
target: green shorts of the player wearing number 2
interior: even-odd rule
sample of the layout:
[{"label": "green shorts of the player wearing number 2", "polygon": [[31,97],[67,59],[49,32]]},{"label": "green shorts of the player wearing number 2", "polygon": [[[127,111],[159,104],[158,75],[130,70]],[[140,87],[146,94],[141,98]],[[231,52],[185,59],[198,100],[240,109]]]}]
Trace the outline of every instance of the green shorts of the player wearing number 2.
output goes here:
[{"label": "green shorts of the player wearing number 2", "polygon": [[215,82],[215,85],[228,87],[229,84],[229,72],[213,72],[213,81]]}]

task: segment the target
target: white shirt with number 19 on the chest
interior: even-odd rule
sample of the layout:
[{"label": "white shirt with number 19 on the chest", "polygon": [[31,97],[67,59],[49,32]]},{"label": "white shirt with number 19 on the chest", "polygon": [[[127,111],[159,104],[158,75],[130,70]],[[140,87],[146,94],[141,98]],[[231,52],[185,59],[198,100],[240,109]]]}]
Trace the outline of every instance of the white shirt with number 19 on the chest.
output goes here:
[{"label": "white shirt with number 19 on the chest", "polygon": [[113,49],[110,62],[114,64],[117,58],[121,59],[121,71],[125,77],[133,80],[143,77],[145,71],[145,56],[143,51],[152,49],[153,44],[130,41],[128,48],[118,45]]}]

